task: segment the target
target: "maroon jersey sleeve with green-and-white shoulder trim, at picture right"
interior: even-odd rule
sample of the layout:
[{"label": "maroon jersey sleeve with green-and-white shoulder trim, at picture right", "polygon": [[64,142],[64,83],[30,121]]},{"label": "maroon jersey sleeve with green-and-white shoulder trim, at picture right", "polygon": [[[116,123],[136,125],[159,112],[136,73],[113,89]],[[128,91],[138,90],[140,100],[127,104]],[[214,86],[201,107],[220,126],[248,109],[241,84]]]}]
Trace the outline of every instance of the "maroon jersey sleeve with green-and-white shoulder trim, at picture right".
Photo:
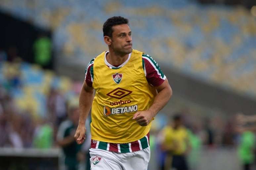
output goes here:
[{"label": "maroon jersey sleeve with green-and-white shoulder trim, at picture right", "polygon": [[152,86],[160,86],[166,76],[160,69],[158,63],[149,55],[142,54],[142,64],[147,81]]}]

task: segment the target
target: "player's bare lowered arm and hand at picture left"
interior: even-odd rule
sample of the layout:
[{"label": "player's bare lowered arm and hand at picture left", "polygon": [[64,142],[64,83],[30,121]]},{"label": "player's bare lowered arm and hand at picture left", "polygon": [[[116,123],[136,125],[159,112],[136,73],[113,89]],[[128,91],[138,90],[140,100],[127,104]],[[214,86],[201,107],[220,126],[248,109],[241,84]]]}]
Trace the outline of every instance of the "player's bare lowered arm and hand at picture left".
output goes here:
[{"label": "player's bare lowered arm and hand at picture left", "polygon": [[85,121],[92,106],[93,96],[94,89],[88,86],[86,81],[84,81],[79,96],[79,124],[74,135],[77,144],[82,144],[85,140]]}]

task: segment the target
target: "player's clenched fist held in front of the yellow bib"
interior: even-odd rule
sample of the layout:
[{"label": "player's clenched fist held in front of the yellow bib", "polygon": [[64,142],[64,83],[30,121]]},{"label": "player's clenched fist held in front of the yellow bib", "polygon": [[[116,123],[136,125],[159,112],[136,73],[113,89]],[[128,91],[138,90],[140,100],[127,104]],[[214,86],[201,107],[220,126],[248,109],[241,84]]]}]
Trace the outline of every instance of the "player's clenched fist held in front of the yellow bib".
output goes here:
[{"label": "player's clenched fist held in front of the yellow bib", "polygon": [[149,110],[145,110],[145,111],[139,111],[136,112],[133,115],[133,120],[136,120],[136,122],[140,125],[140,126],[147,126],[150,121],[153,118],[153,113],[150,112]]}]

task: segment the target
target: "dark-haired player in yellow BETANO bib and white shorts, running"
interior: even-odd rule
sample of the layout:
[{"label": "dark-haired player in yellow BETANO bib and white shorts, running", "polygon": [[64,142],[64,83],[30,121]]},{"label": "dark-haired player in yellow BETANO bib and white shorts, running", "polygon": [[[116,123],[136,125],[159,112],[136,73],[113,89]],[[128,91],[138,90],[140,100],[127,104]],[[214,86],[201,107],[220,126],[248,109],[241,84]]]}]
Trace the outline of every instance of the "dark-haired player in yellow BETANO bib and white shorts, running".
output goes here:
[{"label": "dark-haired player in yellow BETANO bib and white shorts, running", "polygon": [[92,170],[146,170],[151,121],[168,102],[172,90],[158,64],[132,49],[128,19],[107,19],[103,34],[108,51],[86,68],[74,137],[78,144],[85,140],[84,124],[92,106]]}]

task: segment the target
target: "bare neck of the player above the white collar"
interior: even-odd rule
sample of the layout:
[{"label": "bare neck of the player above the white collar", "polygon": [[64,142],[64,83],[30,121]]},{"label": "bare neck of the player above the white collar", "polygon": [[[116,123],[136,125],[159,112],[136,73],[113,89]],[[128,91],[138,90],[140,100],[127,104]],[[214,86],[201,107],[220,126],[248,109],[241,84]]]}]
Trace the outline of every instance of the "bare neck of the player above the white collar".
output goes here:
[{"label": "bare neck of the player above the white collar", "polygon": [[109,49],[109,52],[106,55],[107,62],[112,66],[120,66],[123,64],[129,57],[129,54],[118,54]]}]

